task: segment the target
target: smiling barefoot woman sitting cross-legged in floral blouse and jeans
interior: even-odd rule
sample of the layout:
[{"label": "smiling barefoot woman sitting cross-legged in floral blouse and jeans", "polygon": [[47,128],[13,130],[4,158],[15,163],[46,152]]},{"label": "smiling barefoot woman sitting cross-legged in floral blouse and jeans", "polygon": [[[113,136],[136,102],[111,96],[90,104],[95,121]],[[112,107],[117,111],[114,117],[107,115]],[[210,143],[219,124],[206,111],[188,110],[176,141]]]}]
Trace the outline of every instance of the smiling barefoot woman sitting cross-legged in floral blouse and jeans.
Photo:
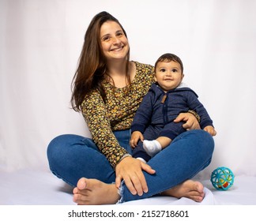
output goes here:
[{"label": "smiling barefoot woman sitting cross-legged in floral blouse and jeans", "polygon": [[62,135],[47,149],[52,173],[76,186],[73,201],[77,204],[115,204],[156,194],[203,199],[203,185],[190,178],[209,165],[214,142],[209,133],[198,129],[193,114],[175,119],[183,121],[188,131],[147,164],[130,155],[130,125],[153,74],[152,66],[130,62],[126,32],[115,17],[107,12],[93,17],[71,99],[73,109],[83,114],[92,140]]}]

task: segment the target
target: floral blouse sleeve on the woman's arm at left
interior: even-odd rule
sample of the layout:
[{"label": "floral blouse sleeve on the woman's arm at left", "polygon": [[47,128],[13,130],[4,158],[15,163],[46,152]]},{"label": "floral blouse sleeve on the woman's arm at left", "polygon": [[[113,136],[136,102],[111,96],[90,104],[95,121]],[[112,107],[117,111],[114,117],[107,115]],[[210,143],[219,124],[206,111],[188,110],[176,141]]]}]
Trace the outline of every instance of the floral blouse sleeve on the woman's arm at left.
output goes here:
[{"label": "floral blouse sleeve on the woman's arm at left", "polygon": [[111,166],[115,168],[122,156],[128,152],[119,145],[111,130],[105,103],[100,93],[93,91],[88,96],[85,96],[81,107],[85,122],[92,134],[92,140],[96,143],[100,152],[107,157]]}]

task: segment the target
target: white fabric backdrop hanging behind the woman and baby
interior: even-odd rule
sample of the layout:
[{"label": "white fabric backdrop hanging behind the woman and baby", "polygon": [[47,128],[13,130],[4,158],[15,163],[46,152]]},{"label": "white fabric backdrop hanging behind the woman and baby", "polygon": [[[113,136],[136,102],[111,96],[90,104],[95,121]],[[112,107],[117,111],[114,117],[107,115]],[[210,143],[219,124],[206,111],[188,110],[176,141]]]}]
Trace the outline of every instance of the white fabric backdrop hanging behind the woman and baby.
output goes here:
[{"label": "white fabric backdrop hanging behind the woman and baby", "polygon": [[62,133],[90,137],[70,109],[70,83],[85,30],[102,10],[126,29],[131,58],[182,58],[218,132],[209,176],[225,166],[256,175],[256,1],[0,0],[0,170],[48,168]]}]

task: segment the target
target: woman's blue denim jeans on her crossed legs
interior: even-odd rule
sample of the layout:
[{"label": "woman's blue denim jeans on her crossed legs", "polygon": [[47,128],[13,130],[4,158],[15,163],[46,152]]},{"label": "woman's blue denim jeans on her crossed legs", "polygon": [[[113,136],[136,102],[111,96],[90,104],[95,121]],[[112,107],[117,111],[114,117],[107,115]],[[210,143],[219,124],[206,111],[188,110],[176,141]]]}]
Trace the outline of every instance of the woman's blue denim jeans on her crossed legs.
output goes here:
[{"label": "woman's blue denim jeans on her crossed legs", "polygon": [[[119,144],[131,154],[130,130],[114,133]],[[148,164],[156,170],[156,174],[144,171],[149,192],[134,196],[122,182],[120,202],[152,197],[193,178],[209,165],[213,148],[213,137],[202,129],[181,133],[149,160]],[[47,148],[47,157],[52,173],[70,185],[76,186],[82,177],[115,182],[115,170],[92,139],[70,134],[55,137]]]}]

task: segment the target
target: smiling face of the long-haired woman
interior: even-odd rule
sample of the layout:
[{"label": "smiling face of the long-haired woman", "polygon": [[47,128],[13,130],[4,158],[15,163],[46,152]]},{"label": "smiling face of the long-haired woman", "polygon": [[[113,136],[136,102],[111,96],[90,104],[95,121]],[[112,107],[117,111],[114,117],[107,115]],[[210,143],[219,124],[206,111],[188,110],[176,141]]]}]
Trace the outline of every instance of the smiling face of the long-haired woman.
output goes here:
[{"label": "smiling face of the long-haired woman", "polygon": [[128,39],[115,21],[106,21],[101,25],[100,43],[107,61],[124,59],[129,51]]}]

